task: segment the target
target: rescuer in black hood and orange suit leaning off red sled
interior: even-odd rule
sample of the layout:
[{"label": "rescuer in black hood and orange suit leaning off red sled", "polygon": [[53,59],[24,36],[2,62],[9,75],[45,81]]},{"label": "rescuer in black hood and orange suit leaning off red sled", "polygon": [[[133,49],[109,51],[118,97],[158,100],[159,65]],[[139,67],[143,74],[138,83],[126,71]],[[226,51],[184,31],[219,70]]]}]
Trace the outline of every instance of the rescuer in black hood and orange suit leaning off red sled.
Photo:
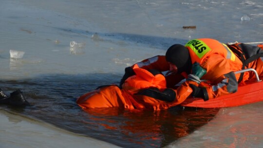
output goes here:
[{"label": "rescuer in black hood and orange suit leaning off red sled", "polygon": [[[172,45],[166,56],[154,56],[126,68],[119,86],[122,88],[126,78],[132,75],[134,67],[170,71],[171,73],[166,76],[169,92],[166,89],[165,94],[169,101],[172,100],[171,106],[180,104],[189,95],[207,101],[234,93],[238,89],[238,83],[255,78],[254,73],[234,74],[236,71],[253,68],[260,77],[263,76],[262,49],[262,45],[252,46],[244,43],[226,45],[211,38],[193,39],[185,46]],[[173,86],[183,78],[186,78],[186,81],[173,89]],[[207,80],[209,87],[203,85],[201,79]],[[139,94],[157,99],[164,92],[148,88]]]}]

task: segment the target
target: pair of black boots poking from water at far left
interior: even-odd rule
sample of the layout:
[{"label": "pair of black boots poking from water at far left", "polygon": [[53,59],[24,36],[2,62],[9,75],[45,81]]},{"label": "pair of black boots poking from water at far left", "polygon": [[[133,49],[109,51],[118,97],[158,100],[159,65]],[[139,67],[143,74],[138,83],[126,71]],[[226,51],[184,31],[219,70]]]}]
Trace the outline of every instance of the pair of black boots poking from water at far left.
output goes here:
[{"label": "pair of black boots poking from water at far left", "polygon": [[[5,98],[3,98],[6,96]],[[10,97],[0,90],[0,104],[8,104],[12,106],[28,106],[30,103],[25,99],[23,92],[17,90],[15,92],[10,93]]]}]

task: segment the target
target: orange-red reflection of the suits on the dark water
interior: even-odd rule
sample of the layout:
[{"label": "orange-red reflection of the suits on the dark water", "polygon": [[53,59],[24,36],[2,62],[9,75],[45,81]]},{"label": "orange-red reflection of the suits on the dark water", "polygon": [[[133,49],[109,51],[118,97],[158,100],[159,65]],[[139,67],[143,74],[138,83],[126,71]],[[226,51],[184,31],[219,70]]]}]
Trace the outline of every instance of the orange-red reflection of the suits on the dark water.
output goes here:
[{"label": "orange-red reflection of the suits on the dark water", "polygon": [[[165,111],[120,111],[119,109],[85,110],[94,115],[95,124],[105,129],[118,130],[123,139],[141,146],[163,147],[188,135],[205,124],[217,109],[196,110],[175,107]],[[120,121],[120,119],[122,119]],[[94,123],[90,123],[94,124]],[[115,137],[118,138],[118,137]]]}]

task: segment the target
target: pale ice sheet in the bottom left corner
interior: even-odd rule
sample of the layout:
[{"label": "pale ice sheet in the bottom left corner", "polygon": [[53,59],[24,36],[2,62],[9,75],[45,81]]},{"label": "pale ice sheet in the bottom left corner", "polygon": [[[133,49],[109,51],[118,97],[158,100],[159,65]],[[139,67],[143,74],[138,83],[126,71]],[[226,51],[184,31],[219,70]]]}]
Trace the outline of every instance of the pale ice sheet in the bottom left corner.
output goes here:
[{"label": "pale ice sheet in the bottom left corner", "polygon": [[0,110],[0,119],[1,148],[117,148],[14,112]]}]

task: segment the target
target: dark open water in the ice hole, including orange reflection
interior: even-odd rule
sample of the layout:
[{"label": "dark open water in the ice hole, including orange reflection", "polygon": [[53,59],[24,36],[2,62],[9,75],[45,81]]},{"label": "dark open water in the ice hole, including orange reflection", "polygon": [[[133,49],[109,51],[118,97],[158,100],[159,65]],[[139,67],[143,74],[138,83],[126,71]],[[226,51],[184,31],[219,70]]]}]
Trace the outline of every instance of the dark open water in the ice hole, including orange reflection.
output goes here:
[{"label": "dark open water in the ice hole, including orange reflection", "polygon": [[[94,75],[88,77],[94,77]],[[76,97],[104,85],[102,82],[98,83],[78,81],[72,76],[64,78],[46,76],[34,80],[2,81],[0,88],[6,92],[23,88],[22,91],[28,101],[35,104],[23,110],[9,107],[12,111],[19,111],[62,129],[125,148],[164,147],[207,124],[219,111],[219,109],[184,109],[182,107],[165,111],[118,108],[83,111],[76,105]]]}]

